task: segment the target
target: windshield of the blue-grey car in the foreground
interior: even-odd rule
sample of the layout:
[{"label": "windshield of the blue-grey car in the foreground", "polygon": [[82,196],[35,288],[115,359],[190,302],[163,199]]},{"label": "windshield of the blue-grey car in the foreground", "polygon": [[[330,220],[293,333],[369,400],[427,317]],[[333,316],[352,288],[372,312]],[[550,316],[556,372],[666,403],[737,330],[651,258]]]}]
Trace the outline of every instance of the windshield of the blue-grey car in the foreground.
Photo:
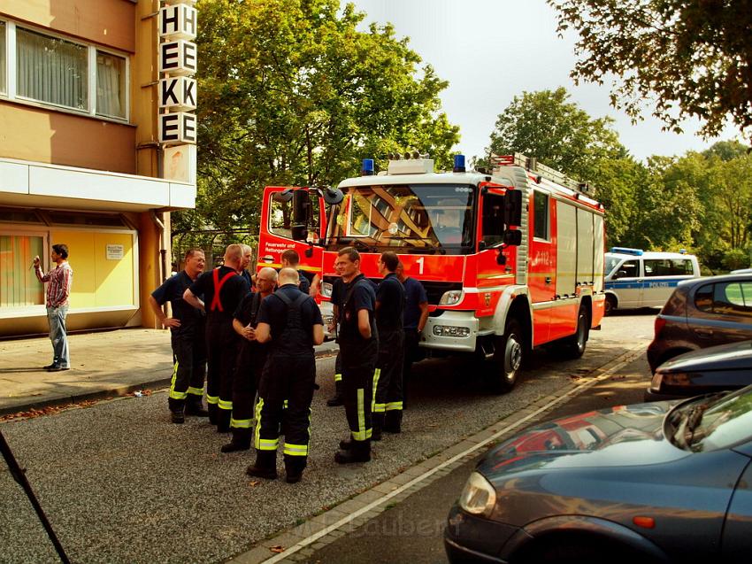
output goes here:
[{"label": "windshield of the blue-grey car in the foreground", "polygon": [[672,442],[693,452],[717,451],[752,438],[752,386],[697,398],[669,415]]}]

